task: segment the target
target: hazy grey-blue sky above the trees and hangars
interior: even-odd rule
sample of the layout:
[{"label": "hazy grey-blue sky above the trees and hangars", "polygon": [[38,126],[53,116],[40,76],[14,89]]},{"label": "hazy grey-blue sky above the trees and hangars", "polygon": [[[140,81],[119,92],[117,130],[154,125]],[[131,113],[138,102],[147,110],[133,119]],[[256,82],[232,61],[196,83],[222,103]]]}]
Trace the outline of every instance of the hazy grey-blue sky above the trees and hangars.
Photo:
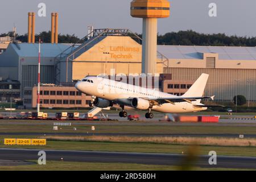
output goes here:
[{"label": "hazy grey-blue sky above the trees and hangars", "polygon": [[[0,33],[13,30],[27,33],[27,13],[36,13],[36,33],[51,29],[51,13],[59,13],[59,32],[82,38],[87,26],[129,28],[142,32],[142,19],[130,16],[131,0],[1,0]],[[46,17],[37,16],[38,4],[46,4]],[[170,0],[170,17],[159,19],[158,32],[193,30],[200,33],[225,33],[256,36],[255,0]],[[210,17],[208,7],[216,3],[217,16]]]}]

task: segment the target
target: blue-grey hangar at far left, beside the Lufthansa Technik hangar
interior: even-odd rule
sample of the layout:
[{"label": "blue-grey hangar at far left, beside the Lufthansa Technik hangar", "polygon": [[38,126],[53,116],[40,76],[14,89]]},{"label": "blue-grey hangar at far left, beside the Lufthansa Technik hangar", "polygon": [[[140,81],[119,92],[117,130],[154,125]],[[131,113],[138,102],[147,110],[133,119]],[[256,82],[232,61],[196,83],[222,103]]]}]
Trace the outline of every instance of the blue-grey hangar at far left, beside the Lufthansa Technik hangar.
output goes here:
[{"label": "blue-grey hangar at far left, beside the Lufthansa Technik hangar", "polygon": [[[55,83],[55,56],[69,47],[68,44],[42,44],[41,81]],[[18,80],[21,90],[37,84],[38,44],[11,43],[0,54],[0,77],[2,80]],[[22,95],[22,92],[21,92]]]}]

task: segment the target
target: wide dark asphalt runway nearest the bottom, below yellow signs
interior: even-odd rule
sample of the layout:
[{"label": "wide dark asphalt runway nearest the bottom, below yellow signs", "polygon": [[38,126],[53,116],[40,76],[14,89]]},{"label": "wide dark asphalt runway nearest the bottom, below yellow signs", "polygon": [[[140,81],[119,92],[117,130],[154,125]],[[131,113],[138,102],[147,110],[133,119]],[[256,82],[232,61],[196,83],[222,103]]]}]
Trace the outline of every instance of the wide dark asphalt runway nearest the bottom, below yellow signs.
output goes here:
[{"label": "wide dark asphalt runway nearest the bottom, below yellow signs", "polygon": [[[137,163],[181,166],[189,163],[187,155],[179,154],[156,154],[136,152],[103,152],[103,151],[65,151],[44,150],[46,160],[66,162],[93,162],[93,163]],[[39,150],[0,148],[1,160],[38,160]],[[197,156],[192,160],[192,166],[205,168],[246,168],[256,169],[256,158],[241,156],[217,156],[217,164],[209,164],[208,155]],[[196,158],[192,158],[196,159]],[[191,161],[191,160],[190,160]],[[1,164],[1,163],[0,163]]]}]

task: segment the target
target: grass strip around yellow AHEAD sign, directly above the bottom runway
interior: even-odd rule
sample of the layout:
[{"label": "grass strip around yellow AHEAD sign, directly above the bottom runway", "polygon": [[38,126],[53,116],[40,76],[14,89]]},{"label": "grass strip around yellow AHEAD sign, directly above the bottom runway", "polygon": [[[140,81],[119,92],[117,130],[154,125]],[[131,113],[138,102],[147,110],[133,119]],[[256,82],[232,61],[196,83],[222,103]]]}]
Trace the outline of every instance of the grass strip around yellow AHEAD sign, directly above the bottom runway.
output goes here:
[{"label": "grass strip around yellow AHEAD sign, directly above the bottom runway", "polygon": [[[0,147],[8,148],[36,148],[60,150],[88,150],[88,151],[123,151],[123,152],[154,152],[154,153],[186,153],[189,145],[158,144],[146,142],[75,142],[75,141],[47,141],[47,146],[4,146],[1,136]],[[17,138],[31,138],[19,136]],[[198,154],[208,155],[209,151],[216,151],[218,155],[256,156],[256,147],[228,147],[228,146],[200,146]]]}]

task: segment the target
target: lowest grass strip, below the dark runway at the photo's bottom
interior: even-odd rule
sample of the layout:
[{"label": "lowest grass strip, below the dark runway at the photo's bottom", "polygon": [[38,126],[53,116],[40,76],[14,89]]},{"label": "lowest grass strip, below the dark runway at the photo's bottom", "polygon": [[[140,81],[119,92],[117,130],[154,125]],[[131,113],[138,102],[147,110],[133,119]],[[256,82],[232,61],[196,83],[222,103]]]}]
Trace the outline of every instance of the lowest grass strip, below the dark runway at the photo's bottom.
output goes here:
[{"label": "lowest grass strip, below the dark runway at the photo's bottom", "polygon": [[[31,161],[35,162],[35,161]],[[26,165],[26,166],[0,166],[0,171],[174,171],[180,170],[177,166],[127,164],[127,163],[82,163],[82,162],[56,162],[47,161],[46,165]],[[246,170],[229,168],[200,168],[191,167],[190,170],[216,171],[216,170]]]}]

